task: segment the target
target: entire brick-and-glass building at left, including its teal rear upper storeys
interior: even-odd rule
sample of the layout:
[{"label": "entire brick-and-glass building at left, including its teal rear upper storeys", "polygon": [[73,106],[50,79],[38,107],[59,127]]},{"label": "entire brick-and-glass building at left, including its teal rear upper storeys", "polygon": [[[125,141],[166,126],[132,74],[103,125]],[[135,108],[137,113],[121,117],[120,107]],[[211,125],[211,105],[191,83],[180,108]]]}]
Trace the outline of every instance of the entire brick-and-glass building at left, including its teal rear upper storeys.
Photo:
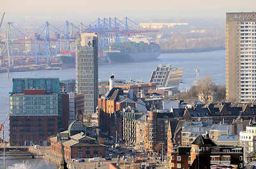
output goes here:
[{"label": "entire brick-and-glass building at left, including its teal rear upper storeys", "polygon": [[13,79],[9,98],[10,145],[49,145],[50,136],[67,128],[68,95],[59,92],[59,79]]}]

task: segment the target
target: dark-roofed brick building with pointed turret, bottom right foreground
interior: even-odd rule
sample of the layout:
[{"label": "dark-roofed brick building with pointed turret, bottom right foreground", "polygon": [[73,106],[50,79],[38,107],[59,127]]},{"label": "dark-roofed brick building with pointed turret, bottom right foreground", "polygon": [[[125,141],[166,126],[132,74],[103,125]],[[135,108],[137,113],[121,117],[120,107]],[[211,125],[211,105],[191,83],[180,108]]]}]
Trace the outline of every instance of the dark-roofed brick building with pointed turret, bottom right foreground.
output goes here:
[{"label": "dark-roofed brick building with pointed turret, bottom right foreground", "polygon": [[176,168],[243,168],[243,147],[218,146],[209,137],[199,135],[192,146],[174,147],[170,169]]}]

